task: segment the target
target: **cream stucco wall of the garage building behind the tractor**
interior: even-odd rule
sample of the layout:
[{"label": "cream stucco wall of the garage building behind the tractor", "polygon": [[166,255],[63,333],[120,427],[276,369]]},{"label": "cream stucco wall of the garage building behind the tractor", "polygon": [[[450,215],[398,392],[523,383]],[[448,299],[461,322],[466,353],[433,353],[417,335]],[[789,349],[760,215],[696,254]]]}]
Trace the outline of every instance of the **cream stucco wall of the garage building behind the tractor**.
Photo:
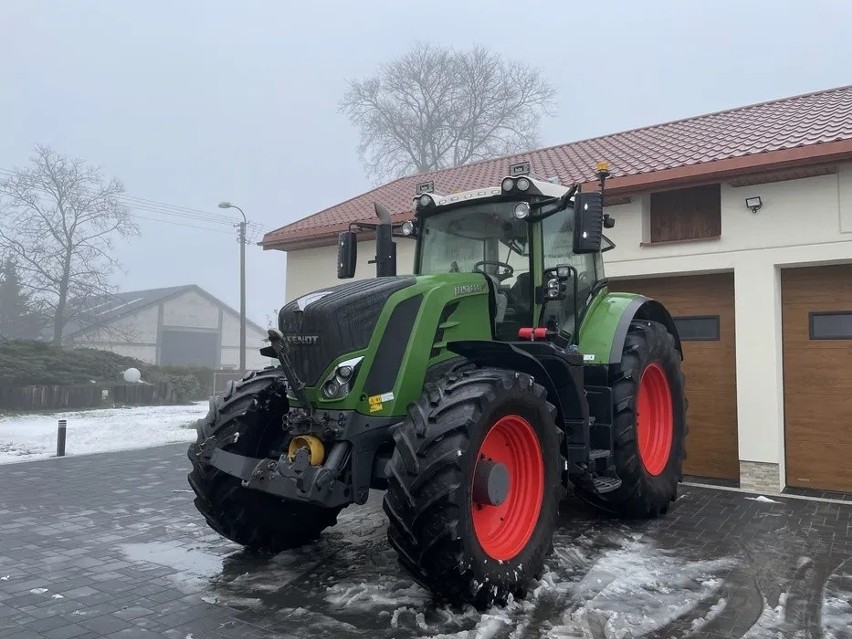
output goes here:
[{"label": "cream stucco wall of the garage building behind the tractor", "polygon": [[[689,274],[733,271],[737,335],[739,452],[743,461],[780,465],[784,477],[784,393],[780,269],[852,262],[852,163],[837,174],[746,187],[722,185],[722,237],[718,240],[643,246],[649,196],[611,206],[617,247],[605,254],[607,275]],[[759,195],[756,214],[745,198]],[[398,270],[410,272],[413,243],[397,240]],[[359,245],[358,277],[375,265],[372,242]],[[287,254],[286,298],[336,279],[337,247]],[[852,282],[850,282],[852,286]],[[617,288],[617,282],[613,284]]]}]

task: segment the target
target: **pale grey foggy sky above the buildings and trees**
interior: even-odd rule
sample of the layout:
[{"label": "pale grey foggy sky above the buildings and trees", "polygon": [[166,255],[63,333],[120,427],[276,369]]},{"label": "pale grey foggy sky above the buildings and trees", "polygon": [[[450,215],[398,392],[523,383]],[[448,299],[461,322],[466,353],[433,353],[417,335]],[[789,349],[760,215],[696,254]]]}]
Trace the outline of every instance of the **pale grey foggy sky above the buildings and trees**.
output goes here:
[{"label": "pale grey foggy sky above the buildings and trees", "polygon": [[[338,100],[417,39],[540,68],[559,92],[547,146],[850,84],[849,24],[847,0],[2,0],[0,169],[48,144],[128,195],[216,214],[231,200],[271,230],[371,187]],[[116,283],[195,283],[237,308],[234,230],[172,221],[202,228],[140,220]],[[247,255],[248,315],[265,326],[285,255]]]}]

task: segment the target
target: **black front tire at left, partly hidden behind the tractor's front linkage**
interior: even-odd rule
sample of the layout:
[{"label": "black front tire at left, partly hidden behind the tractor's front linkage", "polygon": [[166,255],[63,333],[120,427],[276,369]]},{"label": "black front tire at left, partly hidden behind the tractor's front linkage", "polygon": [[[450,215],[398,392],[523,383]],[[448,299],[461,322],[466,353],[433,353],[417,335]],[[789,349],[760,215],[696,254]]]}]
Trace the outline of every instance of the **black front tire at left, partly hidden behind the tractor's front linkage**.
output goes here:
[{"label": "black front tire at left, partly hidden behind the tractor's front linkage", "polygon": [[198,439],[187,451],[192,462],[187,479],[196,494],[195,507],[208,525],[223,537],[264,553],[316,540],[337,522],[341,508],[321,508],[244,488],[238,478],[201,463],[196,452],[201,442],[216,437],[229,452],[277,458],[285,438],[281,419],[288,409],[281,370],[252,371],[224,396],[211,400],[210,411],[197,426]]}]

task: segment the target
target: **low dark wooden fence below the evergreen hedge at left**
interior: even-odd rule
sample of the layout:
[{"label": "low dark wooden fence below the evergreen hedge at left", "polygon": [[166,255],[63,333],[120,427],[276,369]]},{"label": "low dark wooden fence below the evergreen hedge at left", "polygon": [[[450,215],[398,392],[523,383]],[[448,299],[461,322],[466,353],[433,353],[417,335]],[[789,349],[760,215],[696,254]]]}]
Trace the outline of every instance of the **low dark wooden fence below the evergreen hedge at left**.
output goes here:
[{"label": "low dark wooden fence below the evergreen hedge at left", "polygon": [[175,403],[166,382],[159,384],[74,384],[68,386],[0,386],[0,409],[53,410],[113,404],[150,406]]}]

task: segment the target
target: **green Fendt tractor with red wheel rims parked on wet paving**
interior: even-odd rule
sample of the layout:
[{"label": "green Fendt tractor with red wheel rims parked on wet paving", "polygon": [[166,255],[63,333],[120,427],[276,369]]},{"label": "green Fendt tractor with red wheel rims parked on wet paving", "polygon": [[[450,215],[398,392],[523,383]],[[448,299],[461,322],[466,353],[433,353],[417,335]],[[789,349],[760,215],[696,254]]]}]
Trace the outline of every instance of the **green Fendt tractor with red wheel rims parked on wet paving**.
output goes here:
[{"label": "green Fendt tractor with red wheel rims parked on wet paving", "polygon": [[[248,548],[309,543],[385,491],[388,540],[438,598],[523,597],[552,549],[565,489],[623,517],[665,513],[682,480],[682,352],[657,301],[611,292],[614,220],[583,192],[513,165],[494,187],[418,187],[375,234],[377,277],[284,306],[265,355],[211,401],[189,447],[209,525]],[[396,242],[416,241],[413,275]]]}]

